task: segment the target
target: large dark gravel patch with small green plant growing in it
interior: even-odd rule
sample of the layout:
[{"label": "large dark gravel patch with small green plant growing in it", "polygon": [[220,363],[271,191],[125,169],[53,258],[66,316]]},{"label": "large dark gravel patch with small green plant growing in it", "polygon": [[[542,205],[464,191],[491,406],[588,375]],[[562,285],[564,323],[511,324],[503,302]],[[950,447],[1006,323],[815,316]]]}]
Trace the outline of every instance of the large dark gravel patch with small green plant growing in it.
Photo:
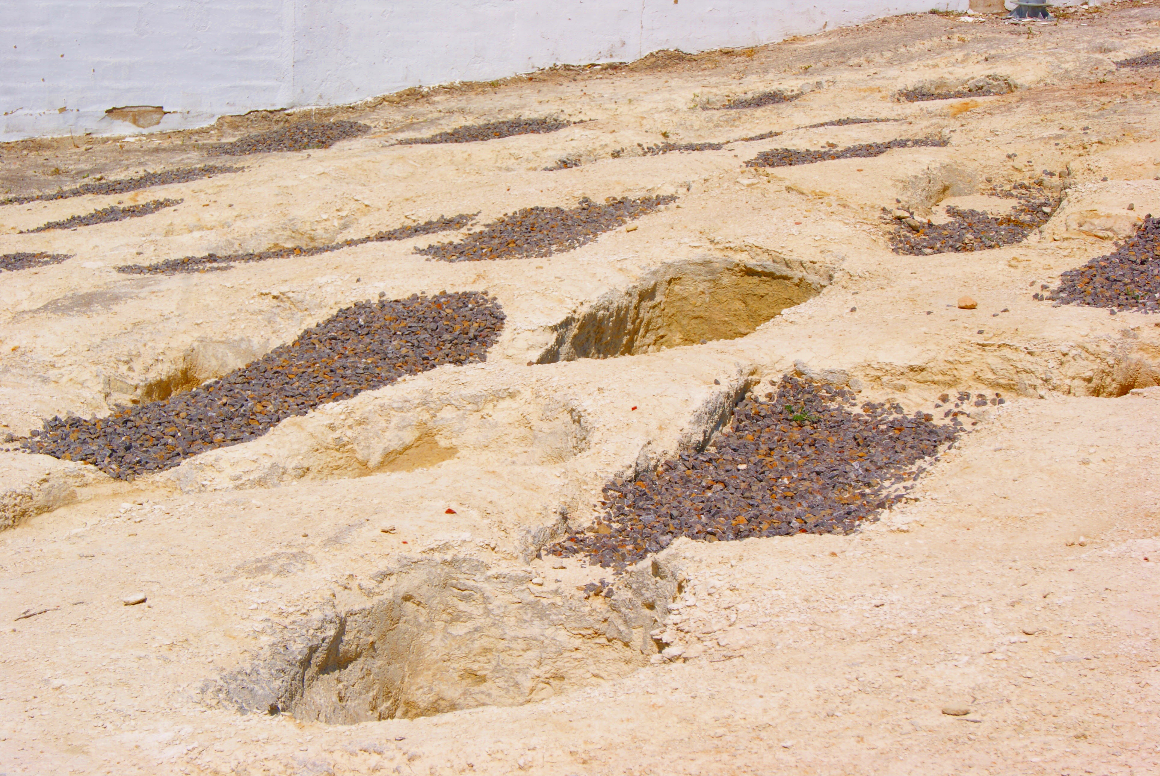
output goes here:
[{"label": "large dark gravel patch with small green plant growing in it", "polygon": [[776,394],[738,405],[715,447],[607,485],[592,529],[546,552],[622,570],[679,536],[847,534],[899,500],[896,486],[921,474],[915,465],[955,440],[966,414],[938,426],[898,405],[855,405],[847,389],[784,377]]}]

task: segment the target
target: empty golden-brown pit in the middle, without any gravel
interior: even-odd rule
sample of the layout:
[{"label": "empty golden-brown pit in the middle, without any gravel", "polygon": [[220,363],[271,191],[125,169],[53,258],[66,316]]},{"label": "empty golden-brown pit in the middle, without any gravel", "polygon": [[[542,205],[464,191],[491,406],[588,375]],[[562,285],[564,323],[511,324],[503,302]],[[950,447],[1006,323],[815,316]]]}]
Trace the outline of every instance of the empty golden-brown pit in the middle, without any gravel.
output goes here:
[{"label": "empty golden-brown pit in the middle, without any gravel", "polygon": [[557,324],[554,341],[537,363],[611,358],[737,339],[821,289],[815,278],[768,263],[674,262]]}]

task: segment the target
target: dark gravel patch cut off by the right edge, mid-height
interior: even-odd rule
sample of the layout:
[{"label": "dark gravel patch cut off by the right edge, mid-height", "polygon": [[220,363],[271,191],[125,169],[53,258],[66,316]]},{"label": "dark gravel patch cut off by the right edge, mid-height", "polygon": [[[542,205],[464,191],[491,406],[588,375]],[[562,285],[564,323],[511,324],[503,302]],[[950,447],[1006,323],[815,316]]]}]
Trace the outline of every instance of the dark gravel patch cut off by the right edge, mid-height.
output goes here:
[{"label": "dark gravel patch cut off by the right edge, mid-height", "polygon": [[1059,288],[1036,299],[1057,304],[1160,312],[1160,218],[1150,213],[1136,234],[1105,256],[1059,276]]}]

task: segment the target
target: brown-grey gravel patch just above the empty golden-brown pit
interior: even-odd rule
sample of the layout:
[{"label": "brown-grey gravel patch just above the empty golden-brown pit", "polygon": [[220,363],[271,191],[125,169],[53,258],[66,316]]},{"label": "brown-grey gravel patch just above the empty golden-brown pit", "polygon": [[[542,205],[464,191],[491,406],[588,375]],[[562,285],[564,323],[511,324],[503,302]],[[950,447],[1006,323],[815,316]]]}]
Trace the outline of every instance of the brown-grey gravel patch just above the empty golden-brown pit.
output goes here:
[{"label": "brown-grey gravel patch just above the empty golden-brown pit", "polygon": [[609,197],[602,205],[585,197],[571,210],[524,208],[501,216],[458,242],[438,242],[415,248],[415,253],[440,261],[541,259],[587,245],[604,232],[651,213],[669,202],[676,202],[676,197]]}]

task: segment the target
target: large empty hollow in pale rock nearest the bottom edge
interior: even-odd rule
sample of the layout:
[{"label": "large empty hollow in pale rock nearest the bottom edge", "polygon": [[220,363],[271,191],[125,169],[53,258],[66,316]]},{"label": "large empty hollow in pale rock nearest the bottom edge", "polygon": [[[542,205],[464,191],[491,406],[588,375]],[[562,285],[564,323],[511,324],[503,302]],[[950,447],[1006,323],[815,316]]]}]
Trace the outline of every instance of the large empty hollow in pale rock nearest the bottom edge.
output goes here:
[{"label": "large empty hollow in pale rock nearest the bottom edge", "polygon": [[372,576],[365,607],[288,631],[261,659],[205,682],[203,702],[242,713],[353,724],[542,701],[624,676],[683,573],[658,559],[611,596],[583,597],[476,558],[403,559]]}]

